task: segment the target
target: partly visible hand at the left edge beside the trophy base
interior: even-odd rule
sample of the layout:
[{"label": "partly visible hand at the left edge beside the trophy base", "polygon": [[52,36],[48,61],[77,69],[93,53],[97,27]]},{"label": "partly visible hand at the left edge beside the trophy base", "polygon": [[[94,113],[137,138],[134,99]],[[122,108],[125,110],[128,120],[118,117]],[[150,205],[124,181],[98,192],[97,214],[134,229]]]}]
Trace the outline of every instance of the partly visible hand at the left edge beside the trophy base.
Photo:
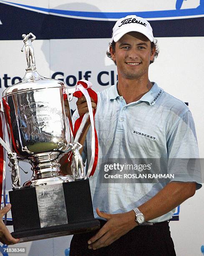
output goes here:
[{"label": "partly visible hand at the left edge beside the trophy base", "polygon": [[0,242],[7,245],[18,243],[20,241],[20,239],[11,236],[8,228],[3,223],[3,216],[10,210],[10,208],[11,205],[8,204],[0,210]]}]

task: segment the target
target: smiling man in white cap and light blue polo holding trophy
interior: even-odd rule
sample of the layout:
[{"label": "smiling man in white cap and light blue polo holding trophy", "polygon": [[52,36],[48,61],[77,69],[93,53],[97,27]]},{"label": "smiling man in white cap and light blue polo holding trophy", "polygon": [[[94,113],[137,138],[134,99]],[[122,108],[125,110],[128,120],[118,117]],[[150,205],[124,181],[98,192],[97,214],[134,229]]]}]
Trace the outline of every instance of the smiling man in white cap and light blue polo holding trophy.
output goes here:
[{"label": "smiling man in white cap and light blue polo holding trophy", "polygon": [[[70,255],[175,255],[167,221],[201,185],[199,172],[178,168],[172,159],[199,157],[194,121],[184,102],[149,80],[149,64],[158,51],[146,20],[135,15],[119,19],[109,49],[118,82],[98,93],[98,159],[160,159],[161,170],[175,171],[175,176],[166,183],[102,183],[98,161],[89,181],[101,229],[74,235]],[[74,121],[87,112],[85,97],[77,105]],[[89,163],[88,127],[82,156]]]}]

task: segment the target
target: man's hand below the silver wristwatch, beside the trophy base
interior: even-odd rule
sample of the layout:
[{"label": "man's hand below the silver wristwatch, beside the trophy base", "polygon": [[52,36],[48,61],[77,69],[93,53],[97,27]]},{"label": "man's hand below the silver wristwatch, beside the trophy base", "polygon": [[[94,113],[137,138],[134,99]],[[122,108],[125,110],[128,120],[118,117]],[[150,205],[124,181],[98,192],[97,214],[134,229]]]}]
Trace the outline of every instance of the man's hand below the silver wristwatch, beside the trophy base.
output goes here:
[{"label": "man's hand below the silver wristwatch, beside the trophy base", "polygon": [[108,246],[138,225],[135,221],[135,213],[133,210],[125,213],[108,214],[100,212],[100,210],[96,208],[96,212],[99,217],[108,221],[95,236],[89,239],[89,249],[96,250]]}]

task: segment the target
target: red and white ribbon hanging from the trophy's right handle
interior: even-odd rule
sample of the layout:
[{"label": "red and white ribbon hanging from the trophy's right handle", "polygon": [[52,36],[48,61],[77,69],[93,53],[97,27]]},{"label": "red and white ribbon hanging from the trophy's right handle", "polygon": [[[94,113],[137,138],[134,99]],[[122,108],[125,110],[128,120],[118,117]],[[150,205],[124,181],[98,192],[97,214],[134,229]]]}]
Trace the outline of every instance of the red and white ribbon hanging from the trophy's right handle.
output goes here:
[{"label": "red and white ribbon hanging from the trophy's right handle", "polygon": [[[91,82],[84,79],[79,80],[77,82],[76,92],[74,92],[73,94],[73,96],[78,98],[82,97],[83,95],[85,96],[87,105],[88,105],[88,113],[91,121],[91,161],[88,166],[88,171],[85,178],[93,176],[96,170],[96,165],[98,161],[98,137],[97,137],[96,128],[94,125],[94,116],[95,116],[96,110],[93,111],[92,105],[91,105],[91,97],[93,98],[94,102],[97,105],[98,96],[97,96],[97,93],[91,89],[91,87],[92,87]],[[83,122],[83,118],[87,118],[87,116],[83,115],[76,120],[74,125],[74,136],[76,136],[76,133],[80,128],[81,123]]]}]

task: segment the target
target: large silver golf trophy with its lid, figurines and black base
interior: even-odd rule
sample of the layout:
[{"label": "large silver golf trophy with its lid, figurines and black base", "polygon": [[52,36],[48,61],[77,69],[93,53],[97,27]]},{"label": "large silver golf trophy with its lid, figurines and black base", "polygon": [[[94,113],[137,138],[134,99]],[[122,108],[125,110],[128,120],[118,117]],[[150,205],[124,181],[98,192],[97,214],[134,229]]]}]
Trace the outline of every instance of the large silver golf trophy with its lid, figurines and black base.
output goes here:
[{"label": "large silver golf trophy with its lid, figurines and black base", "polygon": [[[33,33],[22,37],[28,67],[23,79],[8,87],[2,98],[11,148],[12,235],[32,241],[96,229],[99,225],[93,218],[89,182],[84,179],[79,153],[78,138],[86,119],[75,138],[72,132],[68,102],[75,88],[68,90],[62,81],[38,74],[32,46],[36,37]],[[59,160],[71,152],[73,175],[61,175]],[[32,165],[33,175],[23,186],[18,161]]]}]

